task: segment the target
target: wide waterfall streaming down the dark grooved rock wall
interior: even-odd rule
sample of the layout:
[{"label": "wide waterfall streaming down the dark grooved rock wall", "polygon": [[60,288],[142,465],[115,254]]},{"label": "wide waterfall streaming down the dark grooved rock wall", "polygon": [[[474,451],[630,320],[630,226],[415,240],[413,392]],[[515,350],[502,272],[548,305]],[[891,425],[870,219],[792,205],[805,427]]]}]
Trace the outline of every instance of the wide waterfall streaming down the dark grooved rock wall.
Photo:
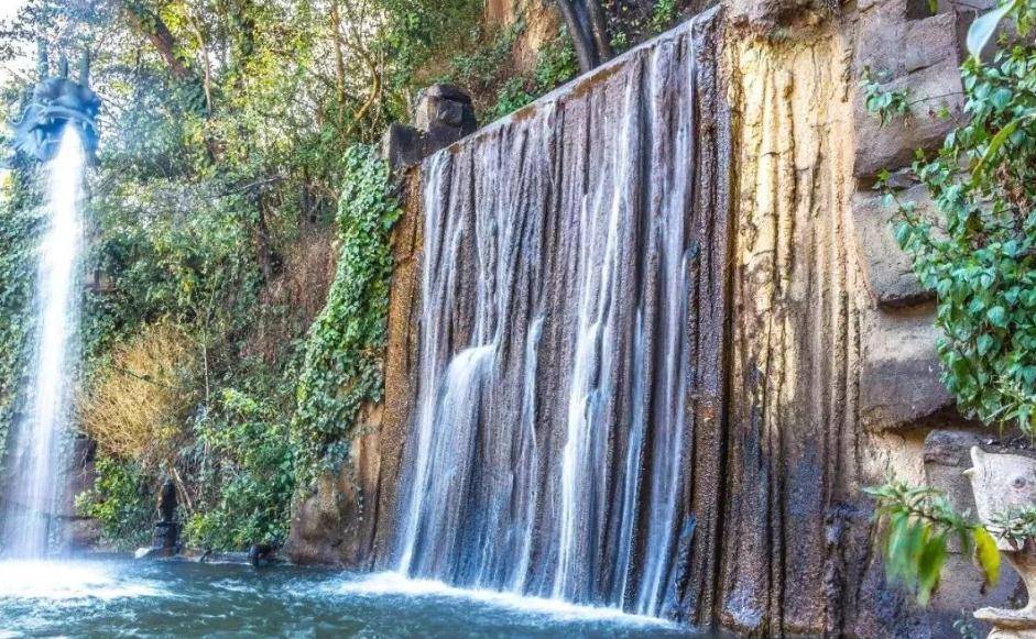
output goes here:
[{"label": "wide waterfall streaming down the dark grooved rock wall", "polygon": [[711,596],[713,16],[425,161],[400,572],[651,616]]}]

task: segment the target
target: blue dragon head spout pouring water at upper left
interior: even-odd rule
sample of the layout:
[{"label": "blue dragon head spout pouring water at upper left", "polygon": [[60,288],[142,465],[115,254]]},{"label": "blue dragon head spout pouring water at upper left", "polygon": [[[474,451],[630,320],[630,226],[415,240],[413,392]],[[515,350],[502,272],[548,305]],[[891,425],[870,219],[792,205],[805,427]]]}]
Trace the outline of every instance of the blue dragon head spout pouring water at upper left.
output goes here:
[{"label": "blue dragon head spout pouring water at upper left", "polygon": [[39,161],[51,159],[65,126],[79,129],[88,157],[97,151],[97,114],[100,98],[89,87],[90,60],[84,52],[79,60],[79,81],[68,78],[68,60],[62,57],[57,77],[48,77],[46,47],[40,45],[40,82],[22,119],[13,123],[14,150]]}]

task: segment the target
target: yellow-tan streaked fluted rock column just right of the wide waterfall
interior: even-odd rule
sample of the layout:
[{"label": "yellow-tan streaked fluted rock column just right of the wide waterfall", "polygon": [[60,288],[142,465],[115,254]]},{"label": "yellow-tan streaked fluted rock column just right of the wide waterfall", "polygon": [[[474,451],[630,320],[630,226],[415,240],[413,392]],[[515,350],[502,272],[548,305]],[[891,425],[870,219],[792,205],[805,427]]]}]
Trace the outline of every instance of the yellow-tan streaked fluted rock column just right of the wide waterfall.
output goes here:
[{"label": "yellow-tan streaked fluted rock column just right of the wide waterfall", "polygon": [[743,632],[837,632],[861,563],[847,554],[868,552],[843,505],[859,500],[861,359],[843,48],[828,31],[730,52],[741,188],[720,620]]}]

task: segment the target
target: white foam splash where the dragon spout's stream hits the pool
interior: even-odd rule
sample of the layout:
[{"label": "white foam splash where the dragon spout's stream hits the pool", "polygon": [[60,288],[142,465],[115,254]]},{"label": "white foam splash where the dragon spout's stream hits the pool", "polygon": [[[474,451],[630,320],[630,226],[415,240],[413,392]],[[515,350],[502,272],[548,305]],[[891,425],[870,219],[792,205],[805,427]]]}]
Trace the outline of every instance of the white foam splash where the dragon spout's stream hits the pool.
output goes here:
[{"label": "white foam splash where the dragon spout's stream hits the pool", "polygon": [[166,594],[149,582],[121,579],[89,562],[0,561],[0,604],[3,599],[111,601]]}]

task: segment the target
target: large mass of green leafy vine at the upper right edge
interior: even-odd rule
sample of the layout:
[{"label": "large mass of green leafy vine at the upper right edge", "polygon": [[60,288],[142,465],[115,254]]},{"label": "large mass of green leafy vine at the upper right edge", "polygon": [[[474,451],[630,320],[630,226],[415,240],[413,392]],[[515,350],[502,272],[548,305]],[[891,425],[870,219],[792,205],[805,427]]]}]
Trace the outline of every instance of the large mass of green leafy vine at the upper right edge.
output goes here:
[{"label": "large mass of green leafy vine at the upper right edge", "polygon": [[[1021,27],[989,63],[962,67],[968,122],[913,170],[936,219],[890,198],[901,245],[938,296],[944,381],[985,423],[1036,432],[1036,2],[1004,5]],[[995,12],[994,12],[995,13]],[[980,24],[977,21],[977,24]],[[981,26],[981,24],[980,24]],[[974,30],[972,30],[974,32]],[[974,33],[972,33],[974,40]]]}]

